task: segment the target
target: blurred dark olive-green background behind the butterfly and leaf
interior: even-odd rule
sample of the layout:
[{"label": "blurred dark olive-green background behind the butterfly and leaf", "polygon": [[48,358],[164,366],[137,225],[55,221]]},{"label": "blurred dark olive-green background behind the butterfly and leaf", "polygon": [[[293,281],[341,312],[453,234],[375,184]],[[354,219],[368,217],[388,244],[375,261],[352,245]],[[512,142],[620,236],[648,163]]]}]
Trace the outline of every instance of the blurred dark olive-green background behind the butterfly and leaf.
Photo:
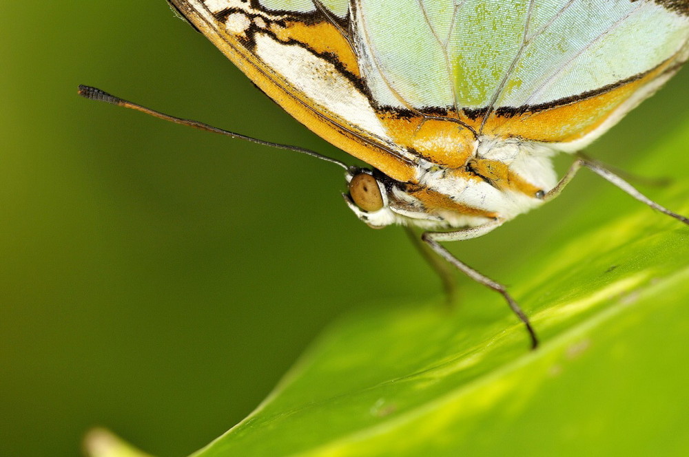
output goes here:
[{"label": "blurred dark olive-green background behind the butterfly and leaf", "polygon": [[[400,229],[373,231],[350,213],[337,167],[76,96],[96,85],[352,162],[164,1],[8,2],[3,13],[2,456],[78,455],[94,425],[187,455],[248,414],[342,312],[440,294]],[[685,71],[590,153],[643,173],[635,160],[688,101]],[[594,206],[604,186],[581,176],[453,250],[500,279],[531,249],[600,222],[568,212]],[[458,280],[462,293],[477,287]]]}]

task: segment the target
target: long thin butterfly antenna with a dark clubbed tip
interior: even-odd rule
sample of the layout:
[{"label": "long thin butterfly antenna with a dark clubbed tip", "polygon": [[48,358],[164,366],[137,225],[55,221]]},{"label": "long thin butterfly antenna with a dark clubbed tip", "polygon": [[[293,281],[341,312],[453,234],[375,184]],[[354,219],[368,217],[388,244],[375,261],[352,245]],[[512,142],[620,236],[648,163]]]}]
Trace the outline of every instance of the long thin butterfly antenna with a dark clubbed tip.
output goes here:
[{"label": "long thin butterfly antenna with a dark clubbed tip", "polygon": [[111,103],[112,105],[117,105],[125,108],[136,109],[136,111],[141,111],[142,113],[150,114],[150,116],[154,116],[159,119],[169,120],[170,122],[175,124],[188,125],[189,127],[194,127],[195,129],[210,131],[214,134],[229,136],[230,138],[238,138],[240,140],[256,143],[257,145],[299,152],[302,154],[306,154],[307,156],[319,158],[321,160],[325,160],[326,162],[331,162],[340,165],[340,167],[344,168],[345,170],[349,169],[349,167],[347,167],[347,164],[345,164],[344,162],[340,162],[340,160],[323,156],[322,154],[319,154],[316,151],[311,151],[310,149],[304,149],[298,146],[282,145],[280,143],[274,143],[270,141],[258,140],[258,138],[252,138],[251,136],[236,134],[233,131],[218,129],[218,127],[213,127],[212,125],[200,123],[198,122],[198,120],[189,120],[177,118],[175,116],[170,116],[169,114],[164,114],[160,111],[156,111],[154,109],[150,109],[145,106],[141,106],[136,103],[124,100],[123,98],[119,98],[114,95],[108,94],[107,92],[104,92],[101,89],[97,89],[96,87],[79,85],[79,95],[83,96],[84,98],[88,98],[89,100],[96,100],[99,102]]}]

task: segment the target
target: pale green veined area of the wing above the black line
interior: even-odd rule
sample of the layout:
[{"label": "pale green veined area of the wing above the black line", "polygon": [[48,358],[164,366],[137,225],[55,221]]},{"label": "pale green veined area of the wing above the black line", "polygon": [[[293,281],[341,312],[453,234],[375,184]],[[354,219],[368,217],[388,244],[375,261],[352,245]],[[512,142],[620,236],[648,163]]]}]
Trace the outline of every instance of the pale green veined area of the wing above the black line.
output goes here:
[{"label": "pale green veined area of the wing above the black line", "polygon": [[675,56],[689,2],[353,0],[360,66],[391,107],[541,105]]}]

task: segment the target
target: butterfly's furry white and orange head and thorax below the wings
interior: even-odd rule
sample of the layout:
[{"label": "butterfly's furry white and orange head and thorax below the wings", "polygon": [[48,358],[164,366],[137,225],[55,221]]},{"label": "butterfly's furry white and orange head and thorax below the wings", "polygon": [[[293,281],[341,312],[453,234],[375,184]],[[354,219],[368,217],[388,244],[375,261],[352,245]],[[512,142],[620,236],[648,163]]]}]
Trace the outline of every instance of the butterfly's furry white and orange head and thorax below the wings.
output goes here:
[{"label": "butterfly's furry white and orange head and thorax below the wings", "polygon": [[[413,182],[393,180],[380,170],[350,169],[347,204],[373,227],[403,224],[426,230],[457,229],[525,213],[542,204],[545,193],[557,182],[553,150],[544,145],[480,138],[472,149],[454,167],[420,158]],[[361,174],[371,179],[355,179]],[[376,204],[358,201],[364,184],[366,192],[380,193]]]}]

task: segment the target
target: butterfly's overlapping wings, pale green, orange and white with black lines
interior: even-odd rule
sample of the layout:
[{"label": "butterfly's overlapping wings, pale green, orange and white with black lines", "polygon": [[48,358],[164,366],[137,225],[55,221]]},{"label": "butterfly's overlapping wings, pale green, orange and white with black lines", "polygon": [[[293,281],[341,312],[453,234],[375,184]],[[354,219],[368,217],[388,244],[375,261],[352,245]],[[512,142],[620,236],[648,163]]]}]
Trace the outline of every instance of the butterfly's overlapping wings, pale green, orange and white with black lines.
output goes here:
[{"label": "butterfly's overlapping wings, pale green, orange and white with black lines", "polygon": [[586,145],[689,55],[689,0],[170,0],[254,83],[393,179],[477,141]]}]

